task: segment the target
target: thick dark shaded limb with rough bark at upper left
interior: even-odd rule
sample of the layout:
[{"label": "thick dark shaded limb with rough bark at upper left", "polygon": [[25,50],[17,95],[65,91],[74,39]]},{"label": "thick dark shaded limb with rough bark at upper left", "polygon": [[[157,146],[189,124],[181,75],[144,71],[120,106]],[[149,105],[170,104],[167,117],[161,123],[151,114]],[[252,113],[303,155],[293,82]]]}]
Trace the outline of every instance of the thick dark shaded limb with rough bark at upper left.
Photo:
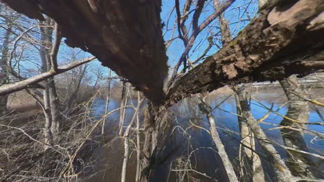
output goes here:
[{"label": "thick dark shaded limb with rough bark at upper left", "polygon": [[95,55],[152,101],[163,99],[168,65],[161,0],[1,1],[30,18],[44,20],[44,13],[55,19],[69,46]]}]

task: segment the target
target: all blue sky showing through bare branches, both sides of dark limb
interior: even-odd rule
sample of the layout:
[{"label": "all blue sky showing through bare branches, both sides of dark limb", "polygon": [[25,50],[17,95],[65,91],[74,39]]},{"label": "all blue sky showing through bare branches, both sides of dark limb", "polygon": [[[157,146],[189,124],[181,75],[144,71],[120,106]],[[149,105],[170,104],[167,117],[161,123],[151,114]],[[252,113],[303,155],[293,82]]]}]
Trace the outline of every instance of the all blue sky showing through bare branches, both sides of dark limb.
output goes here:
[{"label": "all blue sky showing through bare branches, both sides of dark limb", "polygon": [[[162,12],[161,12],[161,19],[165,23],[165,26],[163,28],[163,34],[165,34],[165,41],[168,41],[169,39],[172,38],[172,31],[167,31],[166,28],[172,28],[174,26],[174,22],[176,19],[176,12],[174,9],[174,0],[162,0],[163,1],[163,6],[162,6]],[[193,0],[193,4],[195,4],[197,0]],[[222,1],[222,0],[220,0]],[[224,0],[223,0],[224,1]],[[180,10],[183,9],[183,4],[185,3],[185,0],[180,0]],[[191,10],[193,10],[195,6],[191,6]],[[225,12],[225,17],[230,23],[231,31],[233,34],[233,37],[242,30],[246,26],[247,23],[249,23],[249,19],[253,18],[255,16],[255,13],[258,11],[258,6],[257,6],[257,1],[256,0],[237,0],[233,5],[228,8]],[[204,21],[210,14],[215,12],[213,8],[213,1],[208,0],[205,3],[204,10],[201,14],[201,17],[199,19],[199,24]],[[171,13],[171,14],[170,14]],[[186,26],[188,30],[191,30],[191,19],[192,19],[192,14],[190,14],[188,20],[186,21]],[[168,17],[170,17],[168,21]],[[30,25],[26,25],[26,27],[30,26],[35,26],[37,24],[36,21],[33,21],[33,23],[30,23]],[[37,31],[37,28],[34,28],[35,31]],[[1,37],[3,35],[4,30],[0,28],[0,33]],[[219,32],[218,28],[218,21],[215,19],[212,23],[210,23],[210,26],[203,30],[199,36],[197,37],[195,41],[195,45],[193,46],[192,50],[189,52],[189,60],[194,61],[197,59],[197,57],[200,57],[202,52],[206,49],[208,46],[208,41],[207,37],[210,36],[210,33],[213,32],[214,34]],[[190,31],[191,34],[191,31]],[[33,36],[36,36],[33,34]],[[173,37],[177,37],[177,29],[174,31]],[[14,39],[14,38],[12,38]],[[220,37],[214,37],[214,41],[218,44],[221,45],[219,41]],[[23,42],[21,42],[23,43]],[[27,70],[24,74],[26,74],[26,77],[30,77],[33,74],[37,74],[37,72],[33,72],[34,70],[37,70],[39,68],[39,57],[35,54],[38,53],[38,51],[33,48],[33,45],[24,45],[24,48],[26,48],[23,60],[21,62],[21,70]],[[183,42],[180,39],[175,39],[172,41],[170,47],[167,50],[167,55],[169,58],[168,64],[170,65],[170,68],[174,66],[174,64],[178,61],[179,57],[181,56],[182,52],[184,50],[184,45]],[[217,52],[218,48],[214,45],[213,48],[210,49],[208,52],[208,55],[215,54]],[[19,53],[20,50],[18,50],[17,53]],[[35,53],[37,52],[37,53]],[[59,64],[64,65],[66,62],[71,61],[71,55],[75,55],[75,59],[84,59],[84,57],[90,57],[91,54],[87,52],[83,52],[80,49],[73,49],[69,48],[66,45],[62,45],[60,48],[60,54],[58,56]],[[104,68],[101,66],[101,63],[99,61],[92,61],[89,65],[92,68],[99,68],[102,69],[102,72],[105,74],[103,76],[107,76],[107,68]],[[92,70],[92,69],[91,69]],[[91,74],[91,73],[90,73]],[[94,74],[93,74],[94,76]]]}]

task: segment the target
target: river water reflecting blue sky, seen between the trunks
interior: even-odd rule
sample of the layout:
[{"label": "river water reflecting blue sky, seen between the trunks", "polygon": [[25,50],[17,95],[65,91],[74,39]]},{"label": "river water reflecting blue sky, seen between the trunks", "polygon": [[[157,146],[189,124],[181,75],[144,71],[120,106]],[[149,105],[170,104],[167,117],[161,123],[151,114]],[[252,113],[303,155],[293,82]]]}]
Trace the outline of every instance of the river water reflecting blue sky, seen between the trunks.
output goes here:
[{"label": "river water reflecting blue sky, seen between the trunks", "polygon": [[[207,101],[212,108],[221,103],[219,108],[213,111],[213,115],[215,116],[218,132],[225,145],[226,152],[228,152],[228,156],[233,162],[233,167],[236,172],[238,172],[238,168],[240,168],[240,129],[237,124],[237,116],[235,115],[235,99],[233,97],[226,99],[226,97],[226,95],[210,95]],[[282,115],[286,114],[287,105],[283,105],[285,103],[283,94],[258,94],[255,95],[255,97],[268,108],[271,108],[271,104],[273,103],[273,110],[278,110]],[[226,101],[224,101],[224,99],[226,99]],[[224,101],[224,103],[222,103],[222,101]],[[133,100],[133,102],[134,105],[137,104],[136,100]],[[251,112],[255,119],[262,118],[264,114],[268,112],[266,108],[263,108],[263,106],[256,101],[251,101],[250,105]],[[120,101],[111,100],[109,103],[109,110],[114,110],[119,108],[119,106]],[[141,121],[143,121],[143,108],[141,110]],[[133,112],[134,110],[132,108],[127,108],[125,125],[128,125]],[[93,114],[101,117],[104,113],[105,101],[96,101],[93,105]],[[186,172],[190,173],[190,177],[192,177],[192,179],[190,179],[191,181],[228,181],[224,166],[217,154],[217,148],[210,135],[205,130],[192,126],[191,124],[194,123],[202,128],[208,128],[208,121],[206,117],[198,111],[194,99],[184,99],[177,103],[170,108],[170,113],[171,117],[169,123],[173,126],[171,130],[172,135],[165,141],[165,148],[157,155],[156,170],[152,181],[179,181],[181,175]],[[124,148],[123,139],[116,139],[119,114],[120,112],[118,111],[107,118],[105,127],[106,136],[103,141],[105,145],[98,148],[95,152],[98,156],[98,166],[93,167],[93,173],[95,172],[96,175],[87,180],[89,182],[120,181]],[[260,123],[260,125],[271,141],[283,145],[284,143],[280,136],[280,130],[275,129],[280,121],[282,121],[282,117],[278,114],[271,113],[264,123]],[[318,121],[321,121],[320,117],[318,117],[316,112],[311,110],[309,122]],[[307,125],[307,128],[316,132],[324,132],[323,126]],[[316,137],[310,134],[305,134],[304,139],[309,148],[309,152],[324,155],[324,142],[321,141],[321,139],[316,139]],[[141,141],[143,141],[143,134],[141,136]],[[136,139],[134,139],[134,143],[136,143]],[[278,147],[278,145],[276,148],[280,155],[284,159],[287,159],[287,152]],[[133,149],[134,145],[132,145],[131,150]],[[256,143],[256,150],[260,152],[260,158],[262,159],[267,181],[272,181],[274,176],[273,170],[258,143]],[[314,163],[320,166],[321,170],[324,169],[323,161],[316,158],[312,159]],[[170,172],[170,169],[173,171]],[[181,171],[180,169],[186,169],[187,171]],[[193,170],[197,170],[197,172],[193,172]],[[131,152],[127,165],[127,181],[135,181],[135,175],[136,152]],[[188,181],[188,179],[186,179],[186,181]]]}]

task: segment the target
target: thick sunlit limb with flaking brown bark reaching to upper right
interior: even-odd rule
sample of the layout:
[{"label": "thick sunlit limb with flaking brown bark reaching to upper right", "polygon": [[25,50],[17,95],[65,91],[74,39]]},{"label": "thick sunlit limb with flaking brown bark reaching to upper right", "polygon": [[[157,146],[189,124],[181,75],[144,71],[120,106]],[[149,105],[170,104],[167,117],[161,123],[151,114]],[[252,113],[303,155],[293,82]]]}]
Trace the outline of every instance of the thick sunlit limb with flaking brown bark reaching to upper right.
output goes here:
[{"label": "thick sunlit limb with flaking brown bark reaching to upper right", "polygon": [[324,69],[323,10],[323,0],[264,7],[233,41],[173,84],[168,105],[224,85],[275,81]]}]

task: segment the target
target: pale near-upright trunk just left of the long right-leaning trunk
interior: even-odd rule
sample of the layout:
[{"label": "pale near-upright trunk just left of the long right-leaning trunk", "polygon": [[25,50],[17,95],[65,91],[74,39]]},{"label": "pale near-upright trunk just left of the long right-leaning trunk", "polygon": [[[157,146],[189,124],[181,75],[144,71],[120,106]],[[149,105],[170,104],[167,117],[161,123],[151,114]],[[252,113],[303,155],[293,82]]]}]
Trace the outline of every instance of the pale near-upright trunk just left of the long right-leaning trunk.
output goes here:
[{"label": "pale near-upright trunk just left of the long right-leaning trunk", "polygon": [[[243,95],[242,93],[243,90],[240,88],[234,89],[234,91],[240,92],[240,94]],[[249,159],[249,163],[251,163],[252,166],[252,179],[253,182],[259,182],[259,181],[262,182],[264,181],[264,172],[263,172],[260,156],[258,156],[258,154],[254,152],[255,151],[254,134],[251,128],[249,128],[249,125],[246,123],[246,118],[240,117],[243,115],[249,115],[249,118],[253,118],[253,115],[250,111],[250,108],[242,108],[240,105],[241,102],[246,102],[246,105],[248,105],[246,97],[244,97],[244,100],[240,101],[237,94],[235,94],[235,101],[236,101],[236,109],[238,115],[237,120],[240,125],[240,134],[242,140],[241,142],[242,145],[244,145],[243,146],[244,154]],[[247,148],[245,146],[247,146]],[[243,166],[241,166],[241,168],[243,168]]]}]

